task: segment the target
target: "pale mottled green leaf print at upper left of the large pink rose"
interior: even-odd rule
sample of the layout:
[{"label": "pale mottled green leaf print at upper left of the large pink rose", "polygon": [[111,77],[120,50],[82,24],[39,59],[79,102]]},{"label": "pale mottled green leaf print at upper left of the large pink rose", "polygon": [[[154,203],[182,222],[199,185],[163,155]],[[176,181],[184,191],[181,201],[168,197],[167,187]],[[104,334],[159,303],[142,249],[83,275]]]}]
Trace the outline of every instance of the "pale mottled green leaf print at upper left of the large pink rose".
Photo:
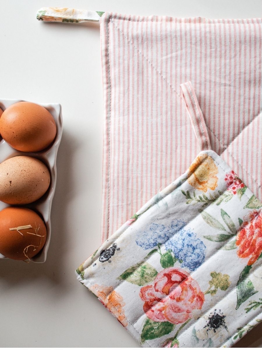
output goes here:
[{"label": "pale mottled green leaf print at upper left of the large pink rose", "polygon": [[127,269],[118,279],[126,280],[137,286],[144,286],[155,279],[158,274],[157,270],[148,262],[144,262],[142,265],[134,265]]}]

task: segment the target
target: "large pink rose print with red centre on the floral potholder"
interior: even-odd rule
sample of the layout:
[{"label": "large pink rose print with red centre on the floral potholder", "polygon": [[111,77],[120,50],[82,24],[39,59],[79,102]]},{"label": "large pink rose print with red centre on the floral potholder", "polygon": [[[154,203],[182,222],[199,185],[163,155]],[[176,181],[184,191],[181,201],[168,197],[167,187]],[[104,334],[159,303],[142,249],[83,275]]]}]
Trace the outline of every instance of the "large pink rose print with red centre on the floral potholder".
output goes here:
[{"label": "large pink rose print with red centre on the floral potholder", "polygon": [[140,290],[144,311],[155,322],[183,323],[194,309],[201,309],[204,293],[194,279],[181,268],[159,272],[152,285]]}]

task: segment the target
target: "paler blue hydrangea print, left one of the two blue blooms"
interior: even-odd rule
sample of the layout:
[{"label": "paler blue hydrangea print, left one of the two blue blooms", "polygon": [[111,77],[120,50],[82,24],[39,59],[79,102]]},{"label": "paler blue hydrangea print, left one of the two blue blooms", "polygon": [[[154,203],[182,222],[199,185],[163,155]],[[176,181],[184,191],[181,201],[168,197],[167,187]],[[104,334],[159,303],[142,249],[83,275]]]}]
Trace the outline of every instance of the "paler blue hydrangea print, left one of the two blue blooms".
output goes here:
[{"label": "paler blue hydrangea print, left one of the two blue blooms", "polygon": [[182,220],[172,221],[170,227],[166,229],[164,225],[152,224],[148,231],[139,233],[136,238],[136,243],[143,249],[152,249],[158,244],[166,243],[175,233],[179,232],[185,225]]}]

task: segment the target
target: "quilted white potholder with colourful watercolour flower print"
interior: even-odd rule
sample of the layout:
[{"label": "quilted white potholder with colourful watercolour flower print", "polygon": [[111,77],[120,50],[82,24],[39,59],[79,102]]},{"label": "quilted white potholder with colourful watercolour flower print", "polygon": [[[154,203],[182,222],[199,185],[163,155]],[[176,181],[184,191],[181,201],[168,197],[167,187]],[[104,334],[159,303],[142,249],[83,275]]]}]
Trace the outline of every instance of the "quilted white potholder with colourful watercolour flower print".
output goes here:
[{"label": "quilted white potholder with colourful watercolour flower print", "polygon": [[262,203],[213,151],[77,269],[144,347],[232,346],[262,320]]}]

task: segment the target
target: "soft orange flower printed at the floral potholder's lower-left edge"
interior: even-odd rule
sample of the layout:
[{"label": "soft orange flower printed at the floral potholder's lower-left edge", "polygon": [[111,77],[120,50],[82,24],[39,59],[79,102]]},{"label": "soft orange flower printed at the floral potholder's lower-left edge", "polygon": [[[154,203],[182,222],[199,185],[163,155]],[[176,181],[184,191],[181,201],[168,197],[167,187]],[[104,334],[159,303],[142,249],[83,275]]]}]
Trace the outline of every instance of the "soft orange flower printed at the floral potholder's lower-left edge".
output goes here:
[{"label": "soft orange flower printed at the floral potholder's lower-left edge", "polygon": [[117,320],[126,327],[128,322],[126,321],[123,307],[125,302],[123,297],[118,294],[113,287],[99,286],[95,284],[90,288],[92,292],[99,297],[102,304],[113,314]]}]

